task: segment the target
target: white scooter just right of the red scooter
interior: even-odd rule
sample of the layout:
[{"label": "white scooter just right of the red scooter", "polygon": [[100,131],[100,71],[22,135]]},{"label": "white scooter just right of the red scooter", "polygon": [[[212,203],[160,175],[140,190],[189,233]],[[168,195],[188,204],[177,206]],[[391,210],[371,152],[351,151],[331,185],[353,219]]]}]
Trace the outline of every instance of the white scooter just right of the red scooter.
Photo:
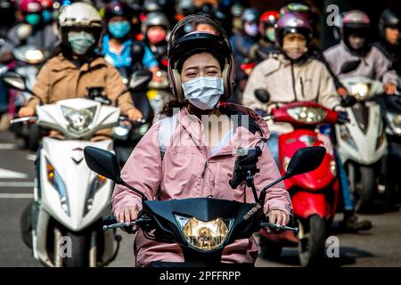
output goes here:
[{"label": "white scooter just right of the red scooter", "polygon": [[336,126],[340,158],[348,170],[356,210],[365,211],[372,208],[387,151],[381,108],[371,101],[374,95],[384,92],[383,85],[366,77],[344,77],[340,81],[355,99],[353,106],[346,109],[349,122]]}]

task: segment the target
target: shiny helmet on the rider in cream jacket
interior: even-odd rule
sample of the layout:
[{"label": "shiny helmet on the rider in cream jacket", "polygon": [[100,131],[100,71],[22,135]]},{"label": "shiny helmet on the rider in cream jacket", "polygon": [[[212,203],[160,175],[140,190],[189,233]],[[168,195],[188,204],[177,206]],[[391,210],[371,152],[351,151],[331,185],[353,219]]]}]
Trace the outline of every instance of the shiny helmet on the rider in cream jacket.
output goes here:
[{"label": "shiny helmet on the rider in cream jacket", "polygon": [[275,40],[281,47],[282,38],[289,33],[299,33],[307,38],[308,45],[312,43],[313,29],[309,20],[299,12],[283,14],[275,24]]}]

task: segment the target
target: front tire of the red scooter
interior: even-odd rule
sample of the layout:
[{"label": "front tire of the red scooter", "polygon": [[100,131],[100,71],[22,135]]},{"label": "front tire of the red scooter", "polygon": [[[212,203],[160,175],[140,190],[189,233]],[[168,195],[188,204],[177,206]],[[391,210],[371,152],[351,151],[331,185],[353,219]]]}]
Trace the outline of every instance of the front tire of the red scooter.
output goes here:
[{"label": "front tire of the red scooter", "polygon": [[309,231],[299,240],[299,263],[304,267],[316,266],[324,257],[326,223],[320,216],[312,215],[305,228]]}]

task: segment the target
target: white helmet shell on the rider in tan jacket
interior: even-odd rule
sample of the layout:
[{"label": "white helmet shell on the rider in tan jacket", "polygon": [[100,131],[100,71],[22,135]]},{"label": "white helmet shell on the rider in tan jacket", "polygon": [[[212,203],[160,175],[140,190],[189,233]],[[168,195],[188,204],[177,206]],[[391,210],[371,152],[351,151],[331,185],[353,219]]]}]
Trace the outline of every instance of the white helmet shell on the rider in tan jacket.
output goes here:
[{"label": "white helmet shell on the rider in tan jacket", "polygon": [[102,28],[102,18],[91,4],[76,2],[65,6],[59,16],[60,27]]}]

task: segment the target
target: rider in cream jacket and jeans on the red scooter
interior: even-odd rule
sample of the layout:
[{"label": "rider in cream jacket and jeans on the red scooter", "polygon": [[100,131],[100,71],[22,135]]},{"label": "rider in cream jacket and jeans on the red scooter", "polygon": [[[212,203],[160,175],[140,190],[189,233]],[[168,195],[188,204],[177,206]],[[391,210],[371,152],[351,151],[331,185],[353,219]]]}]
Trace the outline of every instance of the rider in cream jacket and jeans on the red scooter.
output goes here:
[{"label": "rider in cream jacket and jeans on the red scooter", "polygon": [[[334,78],[325,63],[315,59],[311,51],[313,30],[307,18],[298,12],[284,14],[277,21],[275,32],[280,52],[259,63],[250,74],[243,93],[243,105],[261,115],[290,102],[317,102],[328,109],[341,111]],[[258,101],[255,96],[257,89],[265,89],[270,94],[267,104]],[[270,121],[269,128],[272,134],[267,143],[278,162],[278,137],[288,129]],[[344,219],[340,226],[351,232],[369,230],[372,223],[358,220],[355,214],[349,199],[348,178],[338,156],[337,162],[344,198]]]}]

